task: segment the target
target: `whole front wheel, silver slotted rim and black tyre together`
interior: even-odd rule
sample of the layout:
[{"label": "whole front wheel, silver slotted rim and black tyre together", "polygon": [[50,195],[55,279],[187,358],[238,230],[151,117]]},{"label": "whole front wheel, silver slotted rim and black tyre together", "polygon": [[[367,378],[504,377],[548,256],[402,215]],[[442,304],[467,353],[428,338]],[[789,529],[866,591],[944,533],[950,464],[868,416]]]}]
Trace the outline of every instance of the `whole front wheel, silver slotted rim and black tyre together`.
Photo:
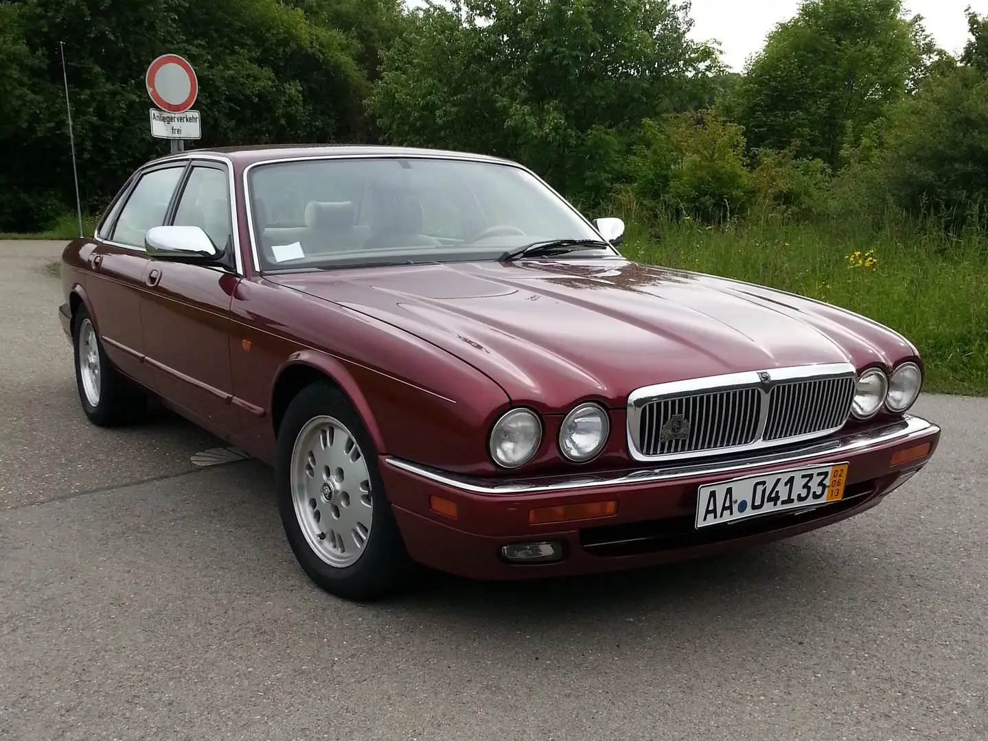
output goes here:
[{"label": "whole front wheel, silver slotted rim and black tyre together", "polygon": [[309,577],[350,599],[381,596],[410,576],[360,415],[328,383],[285,412],[275,475],[288,543]]}]

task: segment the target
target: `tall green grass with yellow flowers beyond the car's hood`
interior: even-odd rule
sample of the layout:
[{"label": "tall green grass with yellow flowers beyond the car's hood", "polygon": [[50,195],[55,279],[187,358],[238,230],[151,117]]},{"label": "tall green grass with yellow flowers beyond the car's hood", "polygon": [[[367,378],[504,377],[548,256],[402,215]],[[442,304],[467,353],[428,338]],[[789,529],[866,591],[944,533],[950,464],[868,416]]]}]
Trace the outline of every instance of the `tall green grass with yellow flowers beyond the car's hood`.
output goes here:
[{"label": "tall green grass with yellow flowers beyond the car's hood", "polygon": [[988,394],[988,234],[949,235],[904,220],[709,227],[688,217],[632,222],[629,259],[780,288],[863,314],[903,333],[927,365],[928,391]]}]

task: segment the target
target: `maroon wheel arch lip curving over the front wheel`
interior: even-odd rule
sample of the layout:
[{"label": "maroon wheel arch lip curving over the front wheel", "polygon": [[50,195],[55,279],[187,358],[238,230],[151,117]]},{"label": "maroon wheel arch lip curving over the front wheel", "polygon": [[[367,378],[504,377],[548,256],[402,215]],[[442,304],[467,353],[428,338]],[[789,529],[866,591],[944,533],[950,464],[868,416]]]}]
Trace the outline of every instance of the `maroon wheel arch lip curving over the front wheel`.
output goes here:
[{"label": "maroon wheel arch lip curving over the front wheel", "polygon": [[305,387],[318,381],[328,381],[346,395],[357,409],[364,426],[371,435],[378,453],[384,453],[384,439],[374,419],[371,405],[346,366],[337,358],[317,350],[305,349],[293,352],[275,374],[271,392],[271,423],[275,437],[291,400]]}]

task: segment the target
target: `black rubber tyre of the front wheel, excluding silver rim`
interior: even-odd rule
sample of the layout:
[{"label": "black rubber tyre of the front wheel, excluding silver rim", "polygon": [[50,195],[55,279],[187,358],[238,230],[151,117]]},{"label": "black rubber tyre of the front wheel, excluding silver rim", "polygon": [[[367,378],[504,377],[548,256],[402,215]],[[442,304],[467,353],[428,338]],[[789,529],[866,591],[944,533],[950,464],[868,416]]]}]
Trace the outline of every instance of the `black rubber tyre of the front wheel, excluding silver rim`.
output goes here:
[{"label": "black rubber tyre of the front wheel, excluding silver rim", "polygon": [[[309,546],[295,513],[291,491],[291,456],[302,428],[317,416],[332,416],[349,428],[360,446],[371,482],[372,525],[362,555],[348,566],[334,566]],[[327,382],[314,383],[288,405],[278,431],[275,460],[278,506],[291,551],[308,577],[320,588],[348,600],[365,601],[411,586],[417,569],[408,557],[401,533],[384,493],[377,468],[377,450],[360,414],[347,396]]]}]

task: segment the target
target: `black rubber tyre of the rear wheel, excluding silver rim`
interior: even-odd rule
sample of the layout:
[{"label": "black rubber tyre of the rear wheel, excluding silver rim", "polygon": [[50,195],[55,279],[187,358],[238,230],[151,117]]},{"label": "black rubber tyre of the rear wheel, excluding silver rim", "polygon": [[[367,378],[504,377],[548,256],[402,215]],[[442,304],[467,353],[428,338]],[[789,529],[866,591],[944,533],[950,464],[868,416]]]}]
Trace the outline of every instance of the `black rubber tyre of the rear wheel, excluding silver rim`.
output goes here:
[{"label": "black rubber tyre of the rear wheel, excluding silver rim", "polygon": [[[90,402],[82,379],[79,339],[81,330],[86,323],[93,326],[100,358],[99,400],[96,405]],[[76,389],[79,392],[82,409],[86,412],[89,421],[100,427],[117,427],[132,424],[142,418],[147,410],[146,395],[110,362],[110,358],[107,357],[103,348],[103,340],[96,332],[92,317],[89,316],[89,312],[84,306],[80,306],[72,316],[72,346],[75,357]]]}]

